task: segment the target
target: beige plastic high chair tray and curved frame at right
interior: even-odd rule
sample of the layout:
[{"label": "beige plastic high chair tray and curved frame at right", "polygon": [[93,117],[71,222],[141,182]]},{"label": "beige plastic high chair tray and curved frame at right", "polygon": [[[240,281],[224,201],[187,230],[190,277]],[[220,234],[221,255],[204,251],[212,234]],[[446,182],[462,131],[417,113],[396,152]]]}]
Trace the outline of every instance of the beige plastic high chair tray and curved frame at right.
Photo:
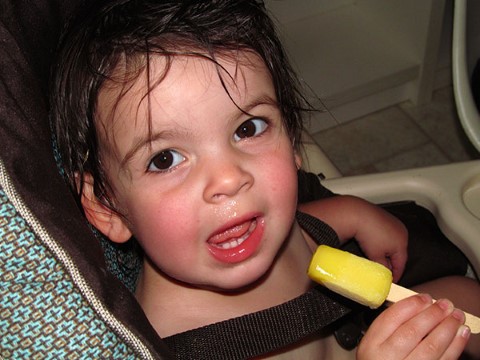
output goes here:
[{"label": "beige plastic high chair tray and curved frame at right", "polygon": [[[469,138],[480,149],[480,115],[473,102],[466,69],[466,0],[455,1],[453,77],[458,113]],[[338,169],[308,136],[305,168],[322,174],[325,187],[374,203],[415,201],[430,210],[444,234],[480,274],[480,160],[342,177]]]}]

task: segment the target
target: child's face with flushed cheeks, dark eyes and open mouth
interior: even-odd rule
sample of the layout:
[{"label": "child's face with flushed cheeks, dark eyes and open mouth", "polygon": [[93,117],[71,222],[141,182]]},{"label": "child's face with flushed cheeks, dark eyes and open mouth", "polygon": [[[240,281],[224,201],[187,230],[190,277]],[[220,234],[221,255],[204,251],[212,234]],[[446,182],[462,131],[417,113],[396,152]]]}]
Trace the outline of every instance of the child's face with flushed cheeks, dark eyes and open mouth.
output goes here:
[{"label": "child's face with flushed cheeks, dark eyes and open mouth", "polygon": [[[113,117],[119,89],[103,89],[98,121],[109,132],[101,159],[123,226],[160,274],[236,289],[268,271],[290,234],[298,159],[263,62],[243,53],[219,63],[231,98],[212,61],[177,57],[150,104],[144,76]],[[152,83],[164,65],[151,60]]]}]

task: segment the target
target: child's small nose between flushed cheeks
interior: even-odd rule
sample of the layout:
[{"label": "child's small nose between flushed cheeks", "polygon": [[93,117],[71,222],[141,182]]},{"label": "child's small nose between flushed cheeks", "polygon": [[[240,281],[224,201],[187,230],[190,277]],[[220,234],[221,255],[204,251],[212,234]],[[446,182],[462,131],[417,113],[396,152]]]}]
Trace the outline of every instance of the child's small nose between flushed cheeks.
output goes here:
[{"label": "child's small nose between flushed cheeks", "polygon": [[207,202],[221,202],[238,193],[248,190],[253,185],[253,175],[242,165],[241,159],[235,157],[217,158],[206,169],[207,183],[204,199]]}]

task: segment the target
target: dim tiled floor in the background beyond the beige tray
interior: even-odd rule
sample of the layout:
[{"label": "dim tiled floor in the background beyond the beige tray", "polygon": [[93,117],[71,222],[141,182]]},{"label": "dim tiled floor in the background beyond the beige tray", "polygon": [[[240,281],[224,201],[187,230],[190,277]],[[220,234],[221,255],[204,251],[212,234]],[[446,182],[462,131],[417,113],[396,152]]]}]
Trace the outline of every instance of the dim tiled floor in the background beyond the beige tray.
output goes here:
[{"label": "dim tiled floor in the background beyond the beige tray", "polygon": [[480,159],[461,128],[450,86],[426,106],[405,102],[313,137],[343,175]]}]

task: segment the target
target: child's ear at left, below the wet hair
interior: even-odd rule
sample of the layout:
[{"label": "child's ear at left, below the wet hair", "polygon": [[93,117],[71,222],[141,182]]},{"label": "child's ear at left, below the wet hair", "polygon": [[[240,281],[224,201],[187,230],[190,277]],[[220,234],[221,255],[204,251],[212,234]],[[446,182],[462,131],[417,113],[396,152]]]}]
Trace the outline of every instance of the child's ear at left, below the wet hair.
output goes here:
[{"label": "child's ear at left, below the wet hair", "polygon": [[117,212],[104,205],[95,196],[93,181],[92,175],[84,175],[81,203],[87,220],[111,241],[116,243],[128,241],[132,237],[130,229]]}]

